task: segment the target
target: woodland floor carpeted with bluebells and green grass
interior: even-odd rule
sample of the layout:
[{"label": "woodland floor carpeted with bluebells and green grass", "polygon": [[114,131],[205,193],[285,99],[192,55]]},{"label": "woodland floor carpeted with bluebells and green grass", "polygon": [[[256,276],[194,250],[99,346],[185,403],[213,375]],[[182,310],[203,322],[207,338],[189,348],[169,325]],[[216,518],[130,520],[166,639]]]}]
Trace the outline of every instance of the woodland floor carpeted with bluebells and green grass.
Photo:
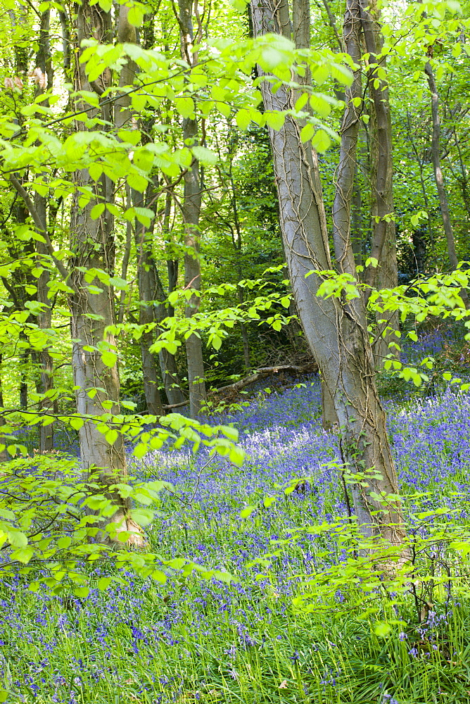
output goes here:
[{"label": "woodland floor carpeted with bluebells and green grass", "polygon": [[[449,387],[386,403],[409,515],[446,507],[449,522],[469,523],[470,396]],[[261,390],[224,420],[239,428],[248,453],[241,469],[217,459],[201,471],[207,458],[189,451],[147,455],[134,469],[172,482],[179,497],[165,498],[163,517],[148,532],[152,548],[228,570],[239,582],[174,573],[155,585],[127,573],[127,586],[92,589],[83,600],[5,585],[0,658],[14,693],[8,701],[470,702],[469,598],[443,595],[421,624],[410,605],[383,639],[374,615],[352,610],[341,591],[318,608],[296,608],[303,584],[296,575],[343,559],[333,540],[301,534],[281,546],[269,577],[257,579],[265,570],[249,564],[279,548],[272,541],[345,516],[331,465],[336,439],[320,425],[317,380],[283,393]],[[279,487],[292,477],[308,479],[285,497]],[[241,519],[243,507],[266,496],[280,498]]]}]

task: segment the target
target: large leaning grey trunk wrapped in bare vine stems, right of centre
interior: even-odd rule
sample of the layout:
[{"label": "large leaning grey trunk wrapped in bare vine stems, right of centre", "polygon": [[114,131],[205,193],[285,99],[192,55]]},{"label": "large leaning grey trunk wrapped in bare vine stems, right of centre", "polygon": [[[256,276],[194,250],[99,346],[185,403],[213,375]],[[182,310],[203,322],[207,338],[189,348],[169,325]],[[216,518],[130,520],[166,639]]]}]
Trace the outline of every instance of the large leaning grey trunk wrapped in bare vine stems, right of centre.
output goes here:
[{"label": "large leaning grey trunk wrapped in bare vine stems, right of centre", "polygon": [[[285,0],[252,0],[255,36],[280,33],[286,15]],[[260,67],[258,72],[262,75]],[[273,94],[270,84],[262,82],[261,89],[266,110],[293,108],[293,96],[286,87]],[[269,128],[269,137],[291,284],[305,337],[334,400],[343,463],[348,472],[371,473],[367,486],[352,484],[355,514],[364,535],[380,534],[397,544],[403,537],[400,503],[390,498],[382,505],[376,498],[381,492],[395,495],[398,483],[385,413],[376,391],[364,302],[361,298],[349,302],[319,298],[322,279],[316,274],[305,278],[312,270],[331,269],[321,222],[322,203],[297,122],[287,115],[280,130]],[[352,252],[340,257],[344,261],[349,258]],[[381,478],[376,479],[377,475]]]}]

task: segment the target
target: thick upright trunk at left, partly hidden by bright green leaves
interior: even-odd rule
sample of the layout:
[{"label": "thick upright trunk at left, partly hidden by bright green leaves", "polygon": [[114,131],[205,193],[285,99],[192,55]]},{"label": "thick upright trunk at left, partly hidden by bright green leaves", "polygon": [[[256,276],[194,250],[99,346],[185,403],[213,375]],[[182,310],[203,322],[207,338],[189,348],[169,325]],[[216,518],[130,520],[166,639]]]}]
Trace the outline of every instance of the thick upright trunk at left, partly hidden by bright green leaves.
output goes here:
[{"label": "thick upright trunk at left, partly hidden by bright green leaves", "polygon": [[[99,42],[110,42],[110,13],[103,12],[99,6],[91,6],[89,0],[83,0],[77,8],[77,45],[84,39],[94,38]],[[77,61],[76,89],[94,91],[84,71],[84,65]],[[100,79],[100,89],[106,89],[110,84],[110,71],[107,70]],[[77,109],[87,109],[87,103],[80,100]],[[103,118],[110,119],[109,111],[103,111]],[[77,122],[76,130],[84,130],[84,122]],[[75,172],[75,185],[91,187],[98,203],[113,203],[113,184],[104,175],[94,182],[87,169]],[[115,348],[115,339],[105,332],[108,325],[113,324],[113,291],[110,287],[98,281],[86,282],[84,272],[80,268],[99,268],[113,273],[114,241],[113,219],[110,213],[103,213],[99,218],[91,218],[91,208],[94,201],[86,206],[79,204],[80,193],[77,191],[72,201],[70,223],[70,249],[73,253],[71,283],[74,294],[70,296],[72,313],[72,367],[75,387],[77,389],[77,413],[87,417],[100,417],[108,413],[119,413],[120,382],[118,365],[106,366],[101,360],[97,347],[104,344]],[[92,293],[90,284],[98,284],[100,293]],[[106,433],[108,435],[108,433]],[[106,435],[98,430],[96,422],[85,420],[79,430],[80,455],[85,474],[99,474],[99,482],[107,487],[116,482],[125,482],[127,467],[125,448],[122,435],[110,442]],[[106,489],[105,489],[106,491]],[[136,524],[129,518],[127,501],[116,491],[107,490],[108,498],[116,506],[112,517],[103,523],[113,523],[115,532],[110,533],[110,539],[115,540],[116,534],[129,530],[133,536],[129,542],[141,544],[141,534]]]}]

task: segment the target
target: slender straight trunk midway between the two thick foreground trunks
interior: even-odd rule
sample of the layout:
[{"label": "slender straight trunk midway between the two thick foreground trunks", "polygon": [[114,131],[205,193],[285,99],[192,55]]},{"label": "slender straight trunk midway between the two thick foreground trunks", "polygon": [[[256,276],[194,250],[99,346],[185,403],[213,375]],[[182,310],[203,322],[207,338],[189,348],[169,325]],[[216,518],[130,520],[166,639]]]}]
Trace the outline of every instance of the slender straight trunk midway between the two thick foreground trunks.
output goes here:
[{"label": "slender straight trunk midway between the two thick foreground trunks", "polygon": [[[192,55],[193,44],[193,23],[192,23],[192,1],[179,0],[179,27],[182,42],[182,58],[191,65],[197,63],[197,58]],[[184,144],[194,146],[197,143],[198,123],[196,119],[184,118],[183,120],[183,141]],[[188,289],[201,291],[201,261],[199,259],[199,243],[201,232],[199,230],[199,215],[201,214],[201,181],[199,175],[199,163],[193,159],[193,163],[184,175],[184,201],[183,220],[185,225],[184,234],[184,285]],[[186,318],[191,318],[199,310],[199,296],[193,294],[186,303]],[[188,360],[188,383],[189,383],[189,413],[195,417],[201,413],[203,401],[205,401],[205,376],[203,361],[203,343],[201,337],[193,333],[186,339],[186,357]]]}]

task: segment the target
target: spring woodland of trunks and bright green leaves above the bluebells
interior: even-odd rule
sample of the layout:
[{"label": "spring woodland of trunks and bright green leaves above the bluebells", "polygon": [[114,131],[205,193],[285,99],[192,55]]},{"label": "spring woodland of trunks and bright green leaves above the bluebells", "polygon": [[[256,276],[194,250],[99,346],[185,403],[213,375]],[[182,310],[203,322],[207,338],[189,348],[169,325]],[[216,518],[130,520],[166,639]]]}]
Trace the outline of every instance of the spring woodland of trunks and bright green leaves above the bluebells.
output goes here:
[{"label": "spring woodland of trunks and bright green leaves above the bluebells", "polygon": [[[161,451],[163,466],[187,444],[243,466],[248,382],[318,372],[350,555],[324,584],[388,581],[389,598],[421,570],[428,622],[448,577],[430,546],[465,556],[466,529],[436,523],[416,549],[379,389],[469,388],[467,10],[3,0],[7,581],[86,599],[101,558],[100,590],[125,566],[230,583],[210,560],[150,549],[174,487],[129,462]],[[447,356],[409,361],[442,320]],[[278,498],[250,498],[241,519]],[[384,604],[379,638],[400,622]]]}]

